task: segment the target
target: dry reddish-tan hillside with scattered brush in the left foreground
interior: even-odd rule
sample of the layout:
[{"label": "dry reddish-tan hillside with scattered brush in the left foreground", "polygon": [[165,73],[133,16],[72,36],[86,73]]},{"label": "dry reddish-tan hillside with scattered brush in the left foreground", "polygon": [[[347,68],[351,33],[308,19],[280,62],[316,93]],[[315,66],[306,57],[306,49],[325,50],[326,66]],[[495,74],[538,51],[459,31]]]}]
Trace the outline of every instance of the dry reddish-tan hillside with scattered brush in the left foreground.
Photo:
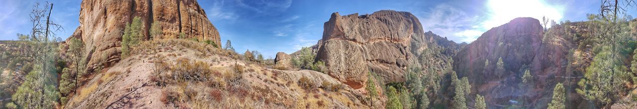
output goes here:
[{"label": "dry reddish-tan hillside with scattered brush in the left foreground", "polygon": [[[329,84],[343,83],[320,72],[264,68],[243,61],[236,54],[214,53],[222,52],[216,48],[206,49],[213,53],[204,54],[201,49],[182,45],[205,44],[187,40],[146,43],[164,46],[149,47],[152,51],[134,54],[101,70],[80,88],[80,93],[71,98],[66,108],[368,108],[369,100],[352,87],[342,85],[336,91],[326,88]],[[236,73],[231,71],[236,65],[243,67],[243,73],[235,74],[238,77],[232,79],[238,80],[229,80],[225,87],[203,82],[158,85],[152,80],[157,56],[166,57],[163,62],[170,66],[183,59],[204,61],[214,72],[221,73],[212,74],[211,79],[230,79],[224,76]],[[301,78],[309,82],[299,82]],[[170,101],[169,98],[180,99]],[[380,100],[375,101],[377,105],[382,104]]]}]

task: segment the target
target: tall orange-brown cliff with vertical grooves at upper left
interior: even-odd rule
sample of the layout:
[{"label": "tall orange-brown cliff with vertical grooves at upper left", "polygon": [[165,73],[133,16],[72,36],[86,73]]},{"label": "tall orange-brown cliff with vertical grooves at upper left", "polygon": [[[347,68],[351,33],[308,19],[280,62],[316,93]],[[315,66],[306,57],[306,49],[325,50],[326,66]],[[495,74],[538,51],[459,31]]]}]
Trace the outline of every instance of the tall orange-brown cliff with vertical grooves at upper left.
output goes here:
[{"label": "tall orange-brown cliff with vertical grooves at upper left", "polygon": [[[120,57],[120,42],[126,23],[140,16],[143,32],[150,39],[150,25],[159,23],[164,36],[210,40],[221,46],[217,29],[196,0],[84,0],[80,10],[80,26],[71,37],[82,39],[89,54],[89,68],[111,66]],[[159,37],[155,37],[159,38]]]}]

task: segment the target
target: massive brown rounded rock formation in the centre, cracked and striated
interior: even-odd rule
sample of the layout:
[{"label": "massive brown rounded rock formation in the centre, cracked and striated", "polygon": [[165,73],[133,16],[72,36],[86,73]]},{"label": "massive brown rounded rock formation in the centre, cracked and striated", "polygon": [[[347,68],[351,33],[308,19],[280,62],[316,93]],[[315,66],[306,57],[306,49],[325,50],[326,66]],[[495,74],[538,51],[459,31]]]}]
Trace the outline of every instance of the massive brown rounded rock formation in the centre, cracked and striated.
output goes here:
[{"label": "massive brown rounded rock formation in the centre, cracked and striated", "polygon": [[387,82],[403,81],[415,60],[412,51],[427,48],[429,42],[418,18],[389,10],[361,16],[333,13],[321,41],[317,60],[326,63],[327,74],[354,89],[365,85],[368,72]]}]

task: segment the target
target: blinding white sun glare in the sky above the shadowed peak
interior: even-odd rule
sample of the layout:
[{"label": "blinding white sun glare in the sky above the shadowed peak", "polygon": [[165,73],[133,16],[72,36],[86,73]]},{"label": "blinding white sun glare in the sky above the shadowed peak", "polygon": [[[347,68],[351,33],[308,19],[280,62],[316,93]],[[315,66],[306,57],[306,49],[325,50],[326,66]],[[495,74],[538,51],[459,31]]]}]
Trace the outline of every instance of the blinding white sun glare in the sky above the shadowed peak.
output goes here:
[{"label": "blinding white sun glare in the sky above the shadowed peak", "polygon": [[482,23],[485,29],[503,25],[518,17],[532,17],[541,22],[542,16],[546,16],[559,22],[564,14],[562,6],[552,6],[542,0],[489,0],[487,7],[489,17]]}]

